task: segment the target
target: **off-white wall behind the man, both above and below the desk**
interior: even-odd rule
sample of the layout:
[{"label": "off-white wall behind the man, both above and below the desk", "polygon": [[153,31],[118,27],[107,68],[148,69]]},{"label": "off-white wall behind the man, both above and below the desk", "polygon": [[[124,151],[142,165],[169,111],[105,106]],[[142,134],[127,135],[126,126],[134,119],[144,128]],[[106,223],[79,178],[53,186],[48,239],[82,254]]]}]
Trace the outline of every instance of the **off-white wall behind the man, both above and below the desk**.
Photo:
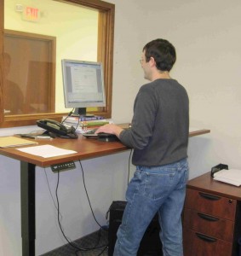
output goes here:
[{"label": "off-white wall behind the man, both above and below the desk", "polygon": [[[128,122],[143,79],[139,60],[144,44],[167,38],[175,44],[172,76],[190,96],[191,125],[211,133],[190,138],[190,177],[225,163],[241,168],[241,3],[239,0],[109,0],[116,5],[113,106],[117,123]],[[121,97],[120,97],[121,96]],[[2,129],[2,135],[23,129]],[[29,127],[32,130],[33,127]],[[129,152],[83,161],[94,212],[101,224],[112,200],[123,200]],[[60,211],[66,235],[77,239],[98,229],[91,217],[77,169],[60,173]],[[0,157],[0,254],[21,255],[19,162]],[[52,193],[57,176],[46,170]],[[55,195],[54,195],[55,196]],[[45,172],[37,168],[37,255],[65,244]]]}]

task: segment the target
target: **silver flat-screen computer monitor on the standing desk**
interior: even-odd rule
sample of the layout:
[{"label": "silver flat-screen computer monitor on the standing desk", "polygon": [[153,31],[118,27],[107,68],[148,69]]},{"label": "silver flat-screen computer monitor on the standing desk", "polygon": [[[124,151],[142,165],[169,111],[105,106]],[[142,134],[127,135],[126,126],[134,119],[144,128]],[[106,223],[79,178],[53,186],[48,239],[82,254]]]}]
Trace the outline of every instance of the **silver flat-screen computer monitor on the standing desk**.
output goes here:
[{"label": "silver flat-screen computer monitor on the standing desk", "polygon": [[106,107],[102,64],[93,61],[62,60],[66,108],[86,115],[86,108]]}]

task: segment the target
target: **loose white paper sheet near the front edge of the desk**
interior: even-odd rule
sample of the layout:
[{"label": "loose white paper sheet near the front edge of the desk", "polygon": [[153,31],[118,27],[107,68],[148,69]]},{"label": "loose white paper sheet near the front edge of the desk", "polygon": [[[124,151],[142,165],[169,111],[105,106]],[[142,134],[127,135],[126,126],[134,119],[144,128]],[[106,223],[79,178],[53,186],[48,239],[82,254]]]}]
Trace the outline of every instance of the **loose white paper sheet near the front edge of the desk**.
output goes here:
[{"label": "loose white paper sheet near the front edge of the desk", "polygon": [[57,148],[52,145],[41,145],[36,147],[16,148],[16,149],[28,154],[42,156],[44,158],[77,153],[76,151],[73,151],[73,150]]}]

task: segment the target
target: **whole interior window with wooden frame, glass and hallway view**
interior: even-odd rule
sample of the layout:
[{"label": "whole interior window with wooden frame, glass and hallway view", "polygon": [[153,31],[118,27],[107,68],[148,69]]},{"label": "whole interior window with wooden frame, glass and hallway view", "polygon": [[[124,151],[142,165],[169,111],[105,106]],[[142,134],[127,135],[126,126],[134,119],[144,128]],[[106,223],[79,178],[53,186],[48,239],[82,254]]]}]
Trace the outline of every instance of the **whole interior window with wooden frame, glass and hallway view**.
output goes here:
[{"label": "whole interior window with wooden frame, glass and hallway view", "polygon": [[62,59],[102,62],[106,107],[88,113],[111,117],[113,4],[5,0],[0,9],[1,127],[34,125],[46,117],[60,121],[72,110],[64,104]]}]

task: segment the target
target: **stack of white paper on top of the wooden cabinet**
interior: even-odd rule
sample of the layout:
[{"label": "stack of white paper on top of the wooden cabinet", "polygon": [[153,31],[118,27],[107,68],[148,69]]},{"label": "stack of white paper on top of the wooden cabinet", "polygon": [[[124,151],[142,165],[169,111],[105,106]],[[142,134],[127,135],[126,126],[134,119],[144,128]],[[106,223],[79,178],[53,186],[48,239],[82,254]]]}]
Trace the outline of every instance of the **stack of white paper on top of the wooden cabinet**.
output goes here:
[{"label": "stack of white paper on top of the wooden cabinet", "polygon": [[239,187],[241,185],[241,170],[221,170],[219,172],[215,172],[214,179]]}]

